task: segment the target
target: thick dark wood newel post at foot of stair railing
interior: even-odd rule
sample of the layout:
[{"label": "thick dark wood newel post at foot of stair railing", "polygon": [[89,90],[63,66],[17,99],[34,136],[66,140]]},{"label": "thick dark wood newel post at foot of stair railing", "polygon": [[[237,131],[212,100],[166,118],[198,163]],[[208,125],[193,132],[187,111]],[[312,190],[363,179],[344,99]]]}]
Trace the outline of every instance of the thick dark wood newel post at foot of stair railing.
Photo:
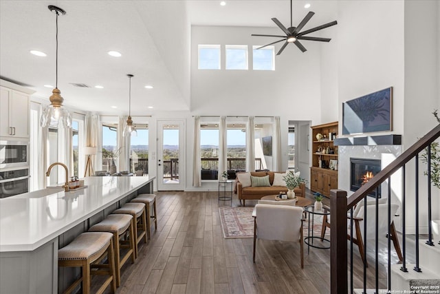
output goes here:
[{"label": "thick dark wood newel post at foot of stair railing", "polygon": [[330,288],[347,294],[347,191],[330,191]]}]

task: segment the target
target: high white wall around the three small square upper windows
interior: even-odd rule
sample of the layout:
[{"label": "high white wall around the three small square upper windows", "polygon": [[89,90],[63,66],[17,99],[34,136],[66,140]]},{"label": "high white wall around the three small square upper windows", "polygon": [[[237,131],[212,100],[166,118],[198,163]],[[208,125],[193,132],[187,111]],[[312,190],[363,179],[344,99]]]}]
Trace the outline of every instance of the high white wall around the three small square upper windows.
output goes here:
[{"label": "high white wall around the three small square upper windows", "polygon": [[[278,29],[279,30],[279,29]],[[320,45],[304,42],[307,52],[288,45],[275,57],[275,71],[252,70],[252,45],[279,34],[277,28],[192,27],[191,112],[201,115],[286,116],[295,120],[320,118]],[[197,69],[197,45],[221,45],[221,70]],[[251,70],[225,70],[224,45],[248,45]],[[278,52],[281,45],[276,46]],[[305,103],[307,101],[307,103]]]}]

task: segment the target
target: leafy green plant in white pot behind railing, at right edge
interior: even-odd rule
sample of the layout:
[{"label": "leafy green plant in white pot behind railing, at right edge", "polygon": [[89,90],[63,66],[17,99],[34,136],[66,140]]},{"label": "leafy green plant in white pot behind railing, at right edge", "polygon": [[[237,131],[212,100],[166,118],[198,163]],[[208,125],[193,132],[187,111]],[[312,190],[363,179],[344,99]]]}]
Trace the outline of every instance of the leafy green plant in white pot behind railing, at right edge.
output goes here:
[{"label": "leafy green plant in white pot behind railing, at right edge", "polygon": [[[437,109],[432,112],[437,121],[440,123],[440,117],[438,115]],[[438,142],[431,143],[430,150],[430,160],[431,160],[431,182],[434,187],[440,189],[440,145]],[[421,161],[428,163],[428,150],[426,149],[423,154],[421,154]],[[423,174],[428,176],[428,171],[425,171]],[[435,237],[440,238],[440,220],[431,220],[432,231]]]}]

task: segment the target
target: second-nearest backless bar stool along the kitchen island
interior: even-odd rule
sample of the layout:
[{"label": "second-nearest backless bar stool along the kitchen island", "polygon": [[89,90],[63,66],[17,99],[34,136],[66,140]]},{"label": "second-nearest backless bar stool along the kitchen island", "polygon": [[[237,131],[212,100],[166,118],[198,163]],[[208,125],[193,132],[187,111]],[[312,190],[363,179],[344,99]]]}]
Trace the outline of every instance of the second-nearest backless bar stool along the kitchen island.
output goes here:
[{"label": "second-nearest backless bar stool along the kitchen island", "polygon": [[[89,231],[113,233],[113,244],[115,248],[115,268],[116,268],[116,286],[121,284],[121,268],[131,256],[131,263],[135,262],[135,242],[134,230],[132,225],[133,216],[128,214],[110,214],[92,226]],[[127,237],[128,234],[128,237]],[[128,238],[128,240],[127,240]],[[123,256],[121,249],[128,249]]]}]

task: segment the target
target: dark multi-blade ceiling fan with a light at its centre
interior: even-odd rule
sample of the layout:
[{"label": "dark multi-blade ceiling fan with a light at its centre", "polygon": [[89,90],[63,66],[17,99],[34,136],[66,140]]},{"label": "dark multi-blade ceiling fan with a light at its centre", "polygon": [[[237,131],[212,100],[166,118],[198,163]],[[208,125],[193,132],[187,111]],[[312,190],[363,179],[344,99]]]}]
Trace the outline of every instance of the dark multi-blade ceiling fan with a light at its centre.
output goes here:
[{"label": "dark multi-blade ceiling fan with a light at its centre", "polygon": [[267,45],[261,46],[256,49],[265,48],[266,46],[285,41],[283,46],[281,46],[281,49],[276,54],[276,55],[280,55],[281,52],[283,52],[284,48],[286,48],[286,46],[289,45],[289,43],[294,43],[296,45],[296,47],[298,47],[302,52],[306,52],[307,49],[305,49],[305,47],[303,46],[303,44],[300,43],[299,40],[329,42],[331,40],[329,38],[320,38],[318,36],[305,36],[305,34],[310,34],[311,32],[316,32],[317,30],[329,28],[332,25],[338,24],[338,21],[331,21],[330,23],[325,23],[324,25],[319,25],[316,28],[311,28],[310,30],[305,30],[303,32],[300,32],[300,30],[302,30],[304,28],[306,23],[311,19],[311,17],[314,16],[314,14],[315,14],[315,12],[310,11],[309,13],[307,13],[305,18],[298,24],[297,27],[292,26],[292,0],[290,0],[290,28],[285,28],[283,23],[278,21],[278,19],[276,19],[276,17],[274,17],[272,19],[272,21],[274,21],[274,23],[276,23],[276,25],[278,25],[278,27],[281,28],[281,30],[283,30],[283,32],[285,32],[286,35],[285,36],[278,36],[278,35],[273,35],[273,34],[252,34],[251,36],[276,36],[278,38],[283,38],[281,40],[269,43]]}]

